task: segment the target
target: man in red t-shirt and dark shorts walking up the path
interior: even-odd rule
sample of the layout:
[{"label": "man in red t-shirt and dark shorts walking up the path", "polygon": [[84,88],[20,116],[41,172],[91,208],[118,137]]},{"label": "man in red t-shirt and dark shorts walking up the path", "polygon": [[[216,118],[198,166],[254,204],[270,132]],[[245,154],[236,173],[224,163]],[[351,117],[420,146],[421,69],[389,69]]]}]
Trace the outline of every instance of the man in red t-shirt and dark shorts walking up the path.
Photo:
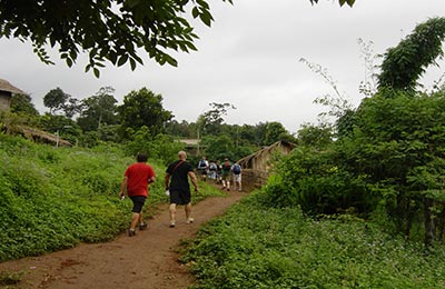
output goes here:
[{"label": "man in red t-shirt and dark shorts walking up the path", "polygon": [[139,230],[147,228],[147,223],[142,219],[142,207],[148,198],[148,183],[156,180],[154,169],[147,165],[147,155],[138,153],[135,163],[130,165],[125,173],[120,186],[120,198],[125,198],[125,192],[132,201],[132,216],[128,236],[136,235],[136,226],[139,223]]}]

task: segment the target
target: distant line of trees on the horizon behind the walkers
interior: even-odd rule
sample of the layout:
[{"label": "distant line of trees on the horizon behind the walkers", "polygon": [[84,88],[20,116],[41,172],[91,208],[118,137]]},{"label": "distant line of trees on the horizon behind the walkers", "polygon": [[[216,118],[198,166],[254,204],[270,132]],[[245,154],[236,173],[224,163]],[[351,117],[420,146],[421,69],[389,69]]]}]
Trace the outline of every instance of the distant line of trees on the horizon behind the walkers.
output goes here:
[{"label": "distant line of trees on the horizon behind the walkers", "polygon": [[175,149],[180,149],[184,144],[179,139],[198,139],[200,155],[215,160],[237,160],[278,140],[296,141],[277,121],[255,126],[225,123],[228,110],[236,109],[230,103],[209,103],[209,109],[197,116],[195,122],[179,122],[174,119],[171,111],[164,108],[162,96],[147,88],[125,96],[122,104],[118,104],[113,93],[113,88],[103,87],[93,96],[79,100],[56,88],[43,97],[43,104],[49,112],[42,116],[29,96],[14,94],[9,118],[14,119],[12,122],[50,133],[58,132],[60,138],[77,146],[123,143],[129,148],[129,153],[144,149],[159,155],[161,149],[145,146],[154,142],[158,146],[176,143]]}]

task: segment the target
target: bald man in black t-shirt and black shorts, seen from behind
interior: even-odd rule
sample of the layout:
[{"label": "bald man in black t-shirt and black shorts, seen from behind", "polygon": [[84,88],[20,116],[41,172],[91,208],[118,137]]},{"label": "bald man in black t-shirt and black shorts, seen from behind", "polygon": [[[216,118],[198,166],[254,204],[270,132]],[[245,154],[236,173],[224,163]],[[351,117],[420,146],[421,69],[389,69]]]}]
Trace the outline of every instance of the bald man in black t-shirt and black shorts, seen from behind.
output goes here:
[{"label": "bald man in black t-shirt and black shorts, seen from behind", "polygon": [[185,151],[178,152],[178,160],[170,163],[166,170],[166,190],[170,192],[170,228],[176,226],[176,207],[178,205],[185,206],[186,223],[194,222],[191,218],[191,193],[188,179],[198,192],[198,180],[194,172],[194,167],[187,162],[187,153]]}]

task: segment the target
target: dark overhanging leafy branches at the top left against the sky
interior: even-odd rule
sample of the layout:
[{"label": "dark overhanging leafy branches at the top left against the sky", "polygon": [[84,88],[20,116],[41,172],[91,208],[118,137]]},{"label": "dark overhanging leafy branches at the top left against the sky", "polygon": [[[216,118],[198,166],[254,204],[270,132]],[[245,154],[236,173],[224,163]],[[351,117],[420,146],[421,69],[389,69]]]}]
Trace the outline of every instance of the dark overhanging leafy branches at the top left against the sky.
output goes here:
[{"label": "dark overhanging leafy branches at the top left against the sky", "polygon": [[[354,0],[339,0],[345,2],[352,6]],[[160,64],[177,66],[170,51],[196,50],[198,36],[187,12],[206,26],[214,21],[206,0],[0,0],[0,38],[31,41],[46,63],[53,63],[48,44],[58,46],[68,67],[88,52],[86,71],[92,69],[99,77],[107,61],[118,67],[129,62],[135,70],[144,63],[140,49]]]}]

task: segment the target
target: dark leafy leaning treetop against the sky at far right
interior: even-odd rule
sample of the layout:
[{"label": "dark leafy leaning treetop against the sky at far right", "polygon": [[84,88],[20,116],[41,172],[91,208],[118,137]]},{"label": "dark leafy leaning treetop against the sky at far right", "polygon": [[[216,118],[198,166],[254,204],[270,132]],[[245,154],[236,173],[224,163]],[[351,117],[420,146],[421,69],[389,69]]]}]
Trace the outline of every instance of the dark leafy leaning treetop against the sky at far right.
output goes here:
[{"label": "dark leafy leaning treetop against the sky at far right", "polygon": [[444,38],[445,18],[432,18],[418,24],[397,47],[386,51],[378,76],[379,88],[414,91],[425,68],[443,56]]}]

